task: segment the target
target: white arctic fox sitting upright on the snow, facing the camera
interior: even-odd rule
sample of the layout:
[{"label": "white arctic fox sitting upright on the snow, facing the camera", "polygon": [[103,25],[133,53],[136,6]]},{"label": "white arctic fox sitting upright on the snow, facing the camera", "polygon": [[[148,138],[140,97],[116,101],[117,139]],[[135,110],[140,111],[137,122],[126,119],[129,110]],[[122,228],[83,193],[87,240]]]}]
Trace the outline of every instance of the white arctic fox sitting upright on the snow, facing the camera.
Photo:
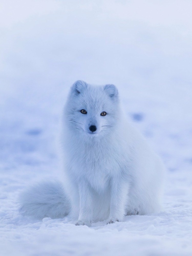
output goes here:
[{"label": "white arctic fox sitting upright on the snow, facing the camera", "polygon": [[22,196],[23,212],[68,215],[75,225],[90,226],[161,209],[164,165],[126,121],[113,84],[75,82],[62,127],[65,188],[47,183],[29,189]]}]

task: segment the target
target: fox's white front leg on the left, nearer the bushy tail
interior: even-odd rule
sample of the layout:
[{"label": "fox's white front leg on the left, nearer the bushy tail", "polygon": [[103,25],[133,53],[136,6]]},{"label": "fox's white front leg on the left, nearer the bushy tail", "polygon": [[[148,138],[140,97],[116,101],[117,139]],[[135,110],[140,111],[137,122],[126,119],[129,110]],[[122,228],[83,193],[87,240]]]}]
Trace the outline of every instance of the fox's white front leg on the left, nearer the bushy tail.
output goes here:
[{"label": "fox's white front leg on the left, nearer the bushy tail", "polygon": [[91,226],[93,209],[92,209],[92,194],[89,184],[81,181],[79,184],[80,212],[79,219],[75,223],[76,226],[86,225]]}]

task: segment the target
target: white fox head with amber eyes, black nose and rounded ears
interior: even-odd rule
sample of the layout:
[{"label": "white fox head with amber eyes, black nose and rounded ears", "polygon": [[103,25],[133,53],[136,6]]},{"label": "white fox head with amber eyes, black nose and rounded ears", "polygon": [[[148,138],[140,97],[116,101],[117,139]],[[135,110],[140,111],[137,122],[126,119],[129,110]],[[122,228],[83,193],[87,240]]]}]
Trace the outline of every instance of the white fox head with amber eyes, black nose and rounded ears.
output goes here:
[{"label": "white fox head with amber eyes, black nose and rounded ears", "polygon": [[75,133],[107,135],[118,122],[118,90],[113,84],[92,86],[78,80],[71,87],[64,114],[67,126]]}]

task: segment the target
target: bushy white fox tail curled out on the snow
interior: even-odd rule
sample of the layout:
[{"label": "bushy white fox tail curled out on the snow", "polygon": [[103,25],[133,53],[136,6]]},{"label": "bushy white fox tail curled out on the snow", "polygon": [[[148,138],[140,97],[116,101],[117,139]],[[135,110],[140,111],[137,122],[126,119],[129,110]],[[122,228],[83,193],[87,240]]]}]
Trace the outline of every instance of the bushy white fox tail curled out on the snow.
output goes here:
[{"label": "bushy white fox tail curled out on the snow", "polygon": [[62,184],[57,181],[38,183],[20,195],[20,212],[42,219],[63,218],[69,214],[70,202]]}]

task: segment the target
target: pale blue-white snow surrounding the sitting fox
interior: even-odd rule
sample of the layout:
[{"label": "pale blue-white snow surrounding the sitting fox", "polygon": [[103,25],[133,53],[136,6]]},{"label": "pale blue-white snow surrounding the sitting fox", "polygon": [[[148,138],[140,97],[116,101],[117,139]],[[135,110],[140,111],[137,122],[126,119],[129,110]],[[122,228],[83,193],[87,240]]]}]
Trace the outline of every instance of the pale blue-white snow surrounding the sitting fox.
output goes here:
[{"label": "pale blue-white snow surrounding the sitting fox", "polygon": [[[1,255],[192,254],[191,1],[1,1]],[[61,180],[71,84],[114,83],[167,167],[164,210],[75,226],[19,214],[25,186]]]}]

